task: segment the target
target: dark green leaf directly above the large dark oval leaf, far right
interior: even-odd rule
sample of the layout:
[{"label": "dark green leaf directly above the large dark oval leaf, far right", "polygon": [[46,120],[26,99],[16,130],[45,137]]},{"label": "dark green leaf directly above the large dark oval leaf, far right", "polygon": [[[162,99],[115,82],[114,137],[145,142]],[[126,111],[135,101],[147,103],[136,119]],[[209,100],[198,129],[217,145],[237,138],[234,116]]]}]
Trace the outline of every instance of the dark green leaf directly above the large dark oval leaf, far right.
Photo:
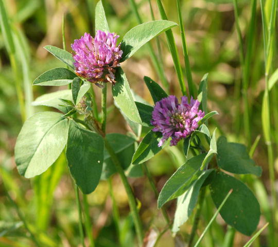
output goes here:
[{"label": "dark green leaf directly above the large dark oval leaf, far right", "polygon": [[217,140],[217,164],[223,170],[236,174],[252,173],[258,177],[262,175],[262,168],[256,166],[249,157],[246,146],[228,143],[224,136]]}]

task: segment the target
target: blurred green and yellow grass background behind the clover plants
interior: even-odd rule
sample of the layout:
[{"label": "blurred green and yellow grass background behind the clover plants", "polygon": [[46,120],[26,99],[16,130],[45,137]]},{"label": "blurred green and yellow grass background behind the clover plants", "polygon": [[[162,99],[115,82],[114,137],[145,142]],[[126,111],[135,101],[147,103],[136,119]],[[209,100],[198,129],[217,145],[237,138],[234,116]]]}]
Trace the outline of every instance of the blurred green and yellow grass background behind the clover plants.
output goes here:
[{"label": "blurred green and yellow grass background behind the clover plants", "polygon": [[[70,44],[84,32],[93,33],[96,1],[0,0],[0,3],[4,4],[2,19],[5,17],[3,11],[7,12],[0,33],[0,246],[34,246],[36,239],[43,246],[77,246],[78,210],[65,156],[61,155],[39,177],[27,180],[20,177],[15,168],[13,148],[23,120],[33,112],[49,110],[31,107],[32,96],[37,98],[57,90],[56,87],[30,86],[32,80],[45,70],[63,66],[48,55],[43,46],[48,44],[63,47],[63,13],[67,50],[71,50]],[[262,3],[255,0],[180,2],[193,82],[198,85],[202,76],[208,73],[208,109],[219,112],[210,127],[212,130],[217,127],[218,133],[225,133],[230,141],[246,144],[255,162],[263,167],[261,178],[244,175],[241,179],[248,183],[259,200],[262,217],[258,228],[269,222],[253,246],[271,247],[278,244],[275,236],[277,231],[274,230],[277,222],[271,207],[277,193],[275,174],[277,177],[278,164],[278,92],[275,84],[278,64],[276,25],[273,20],[275,11],[271,11],[276,7],[273,7],[273,3],[275,1],[271,0]],[[175,4],[172,0],[163,1],[168,20],[179,23]],[[103,5],[111,30],[121,37],[138,22],[152,20],[150,5],[154,19],[161,19],[156,1],[105,0]],[[132,89],[150,103],[152,101],[143,75],[160,82],[165,90],[178,96],[181,96],[179,81],[186,80],[186,75],[188,77],[183,59],[186,48],[182,43],[180,29],[175,27],[172,31],[180,57],[175,62],[177,66],[181,64],[183,78],[176,75],[165,34],[122,64]],[[152,53],[158,61],[153,59]],[[107,132],[127,133],[129,127],[113,107],[110,86]],[[95,93],[100,107],[100,90],[95,88]],[[181,150],[180,146],[167,148],[147,163],[159,190],[184,162]],[[151,238],[165,227],[161,212],[157,210],[155,195],[145,177],[130,179],[130,183],[141,201],[141,217]],[[112,187],[110,193],[109,186]],[[114,176],[109,181],[101,181],[87,199],[93,219],[95,245],[119,246],[120,243],[121,246],[132,246],[135,239],[134,226],[128,213],[127,196],[119,178]],[[175,202],[167,204],[167,211],[172,218]],[[214,212],[215,208],[208,195],[201,214],[199,235]],[[188,238],[192,221],[190,218],[184,224],[181,234],[175,239],[167,231],[157,246],[174,246],[174,241],[176,244],[182,243],[183,239]],[[249,239],[235,233],[224,224],[221,217],[217,217],[200,246],[243,246]],[[85,243],[89,242],[86,237]]]}]

